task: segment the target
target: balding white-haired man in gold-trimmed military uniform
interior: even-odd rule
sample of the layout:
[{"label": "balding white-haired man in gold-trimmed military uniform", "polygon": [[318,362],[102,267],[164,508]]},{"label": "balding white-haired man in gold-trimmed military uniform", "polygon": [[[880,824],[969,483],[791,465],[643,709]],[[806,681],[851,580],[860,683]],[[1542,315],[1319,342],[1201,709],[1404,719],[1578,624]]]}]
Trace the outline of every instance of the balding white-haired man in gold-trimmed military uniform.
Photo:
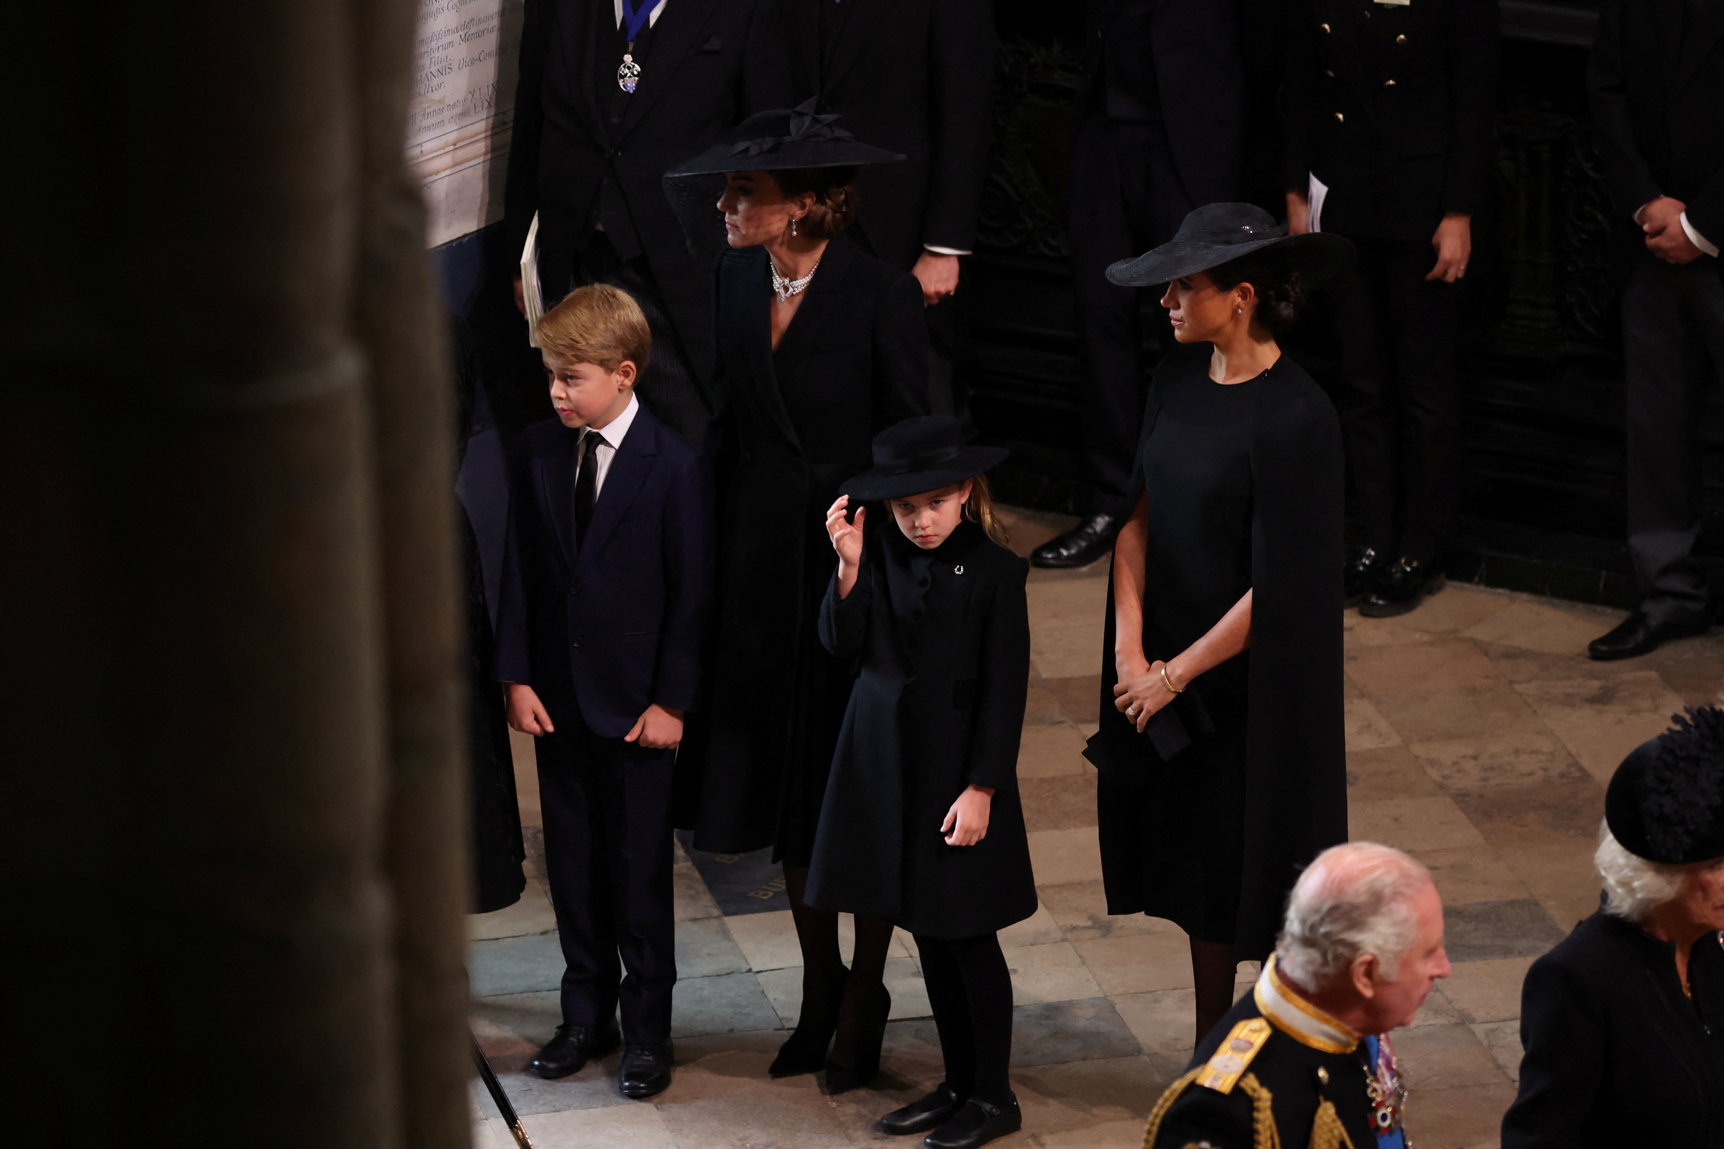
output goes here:
[{"label": "balding white-haired man in gold-trimmed military uniform", "polygon": [[1407,1087],[1386,1034],[1448,977],[1443,901],[1390,846],[1310,863],[1257,987],[1150,1113],[1145,1149],[1405,1149]]}]

